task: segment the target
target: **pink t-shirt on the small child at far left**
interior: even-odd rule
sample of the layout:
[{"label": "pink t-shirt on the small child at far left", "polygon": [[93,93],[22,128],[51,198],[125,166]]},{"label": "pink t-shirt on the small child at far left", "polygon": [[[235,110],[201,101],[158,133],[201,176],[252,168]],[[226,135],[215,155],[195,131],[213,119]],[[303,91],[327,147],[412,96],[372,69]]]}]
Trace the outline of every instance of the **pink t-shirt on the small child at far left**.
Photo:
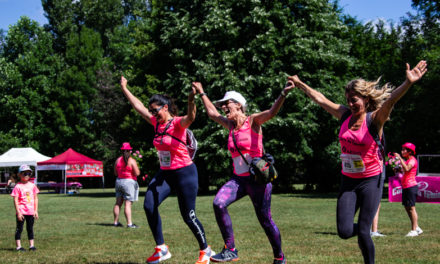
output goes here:
[{"label": "pink t-shirt on the small child at far left", "polygon": [[37,186],[32,182],[18,182],[11,196],[18,197],[18,210],[22,215],[34,215],[35,213],[35,194],[39,193]]}]

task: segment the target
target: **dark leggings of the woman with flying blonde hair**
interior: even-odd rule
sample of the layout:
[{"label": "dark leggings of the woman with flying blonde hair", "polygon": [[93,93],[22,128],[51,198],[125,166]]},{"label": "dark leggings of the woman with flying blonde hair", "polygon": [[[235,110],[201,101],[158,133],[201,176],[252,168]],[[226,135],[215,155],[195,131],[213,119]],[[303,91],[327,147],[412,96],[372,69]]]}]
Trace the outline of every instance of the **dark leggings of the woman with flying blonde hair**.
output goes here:
[{"label": "dark leggings of the woman with flying blonde hair", "polygon": [[[364,263],[374,263],[374,243],[370,228],[382,197],[383,178],[374,177],[354,179],[342,176],[341,191],[338,196],[336,221],[338,235],[343,239],[358,236],[359,248]],[[359,209],[358,223],[354,216]]]}]

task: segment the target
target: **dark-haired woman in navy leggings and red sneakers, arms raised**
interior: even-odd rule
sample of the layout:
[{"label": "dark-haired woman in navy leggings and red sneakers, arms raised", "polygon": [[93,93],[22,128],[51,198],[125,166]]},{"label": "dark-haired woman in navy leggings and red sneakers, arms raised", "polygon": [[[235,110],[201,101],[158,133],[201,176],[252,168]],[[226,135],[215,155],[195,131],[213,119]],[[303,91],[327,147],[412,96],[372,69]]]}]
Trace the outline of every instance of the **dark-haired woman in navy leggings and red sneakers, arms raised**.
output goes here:
[{"label": "dark-haired woman in navy leggings and red sneakers, arms raised", "polygon": [[205,231],[195,213],[198,191],[197,167],[193,163],[186,145],[186,128],[196,117],[194,104],[195,89],[188,95],[188,111],[178,116],[177,107],[166,95],[155,94],[150,98],[149,107],[127,89],[127,80],[121,77],[121,88],[133,108],[154,127],[156,135],[153,144],[159,156],[160,169],[150,181],[145,194],[144,209],[153,233],[156,247],[147,263],[158,263],[169,259],[171,253],[164,242],[162,221],[158,207],[170,195],[177,193],[180,213],[199,243],[199,259],[196,264],[209,264],[214,252],[208,246]]}]

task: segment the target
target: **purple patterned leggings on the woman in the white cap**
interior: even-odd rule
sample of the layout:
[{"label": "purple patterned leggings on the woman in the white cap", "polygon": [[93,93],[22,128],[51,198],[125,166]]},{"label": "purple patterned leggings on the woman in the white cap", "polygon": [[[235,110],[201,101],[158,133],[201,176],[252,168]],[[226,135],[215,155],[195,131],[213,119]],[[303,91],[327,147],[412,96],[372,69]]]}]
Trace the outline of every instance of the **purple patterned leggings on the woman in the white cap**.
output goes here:
[{"label": "purple patterned leggings on the woman in the white cap", "polygon": [[251,180],[249,176],[243,177],[234,175],[231,180],[220,188],[214,198],[215,217],[226,246],[228,248],[235,248],[234,231],[227,207],[245,195],[249,195],[251,198],[258,221],[272,245],[274,257],[283,257],[280,231],[273,222],[270,212],[272,184],[258,184]]}]

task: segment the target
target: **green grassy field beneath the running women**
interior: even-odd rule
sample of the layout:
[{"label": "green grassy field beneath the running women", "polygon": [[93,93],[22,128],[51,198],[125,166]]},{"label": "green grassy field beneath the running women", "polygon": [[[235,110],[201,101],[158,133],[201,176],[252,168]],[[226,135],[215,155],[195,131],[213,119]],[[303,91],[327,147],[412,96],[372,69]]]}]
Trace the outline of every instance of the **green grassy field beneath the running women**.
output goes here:
[{"label": "green grassy field beneath the running women", "polygon": [[[145,187],[143,188],[145,191]],[[134,204],[134,223],[139,229],[112,226],[114,191],[82,190],[66,196],[39,195],[40,219],[35,224],[36,252],[15,252],[15,211],[12,198],[0,195],[0,263],[144,263],[154,240],[143,211],[143,193]],[[212,210],[213,196],[197,200],[197,214],[208,243],[219,251],[223,242]],[[249,198],[232,204],[238,263],[272,263],[270,244],[256,219]],[[183,223],[176,197],[160,207],[164,237],[173,257],[169,264],[195,263],[195,238]],[[357,239],[342,240],[336,234],[335,194],[278,194],[272,198],[272,215],[283,240],[288,263],[362,263]],[[376,263],[440,263],[440,205],[417,204],[419,237],[407,238],[409,219],[399,203],[382,201],[379,229],[386,237],[375,238]],[[122,217],[125,224],[125,218]],[[22,244],[28,248],[23,231]]]}]

